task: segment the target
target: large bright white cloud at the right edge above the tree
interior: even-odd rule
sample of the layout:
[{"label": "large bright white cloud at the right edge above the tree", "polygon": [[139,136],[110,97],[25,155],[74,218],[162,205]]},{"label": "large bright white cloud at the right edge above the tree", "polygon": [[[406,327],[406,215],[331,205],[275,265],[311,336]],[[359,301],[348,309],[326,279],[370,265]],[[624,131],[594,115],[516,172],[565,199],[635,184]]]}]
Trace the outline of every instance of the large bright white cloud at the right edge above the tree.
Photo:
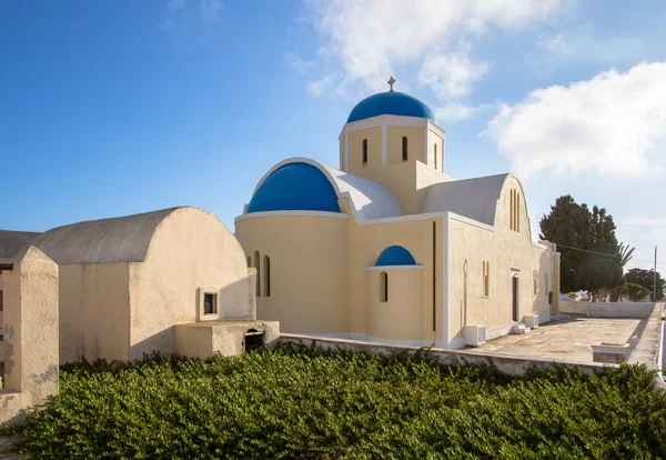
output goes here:
[{"label": "large bright white cloud at the right edge above the tree", "polygon": [[532,91],[485,131],[523,177],[539,171],[642,177],[666,152],[666,62]]}]

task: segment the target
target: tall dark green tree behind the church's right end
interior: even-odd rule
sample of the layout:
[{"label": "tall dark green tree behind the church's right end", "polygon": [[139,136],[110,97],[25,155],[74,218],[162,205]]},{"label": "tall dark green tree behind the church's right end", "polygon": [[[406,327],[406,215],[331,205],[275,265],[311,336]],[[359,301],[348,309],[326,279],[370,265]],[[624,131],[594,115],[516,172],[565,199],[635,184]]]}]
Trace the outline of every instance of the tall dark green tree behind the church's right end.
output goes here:
[{"label": "tall dark green tree behind the church's right end", "polygon": [[595,204],[591,211],[587,204],[578,204],[566,194],[555,201],[539,226],[539,238],[556,243],[562,254],[563,292],[586,290],[601,300],[620,286],[622,248],[613,217],[604,208]]}]

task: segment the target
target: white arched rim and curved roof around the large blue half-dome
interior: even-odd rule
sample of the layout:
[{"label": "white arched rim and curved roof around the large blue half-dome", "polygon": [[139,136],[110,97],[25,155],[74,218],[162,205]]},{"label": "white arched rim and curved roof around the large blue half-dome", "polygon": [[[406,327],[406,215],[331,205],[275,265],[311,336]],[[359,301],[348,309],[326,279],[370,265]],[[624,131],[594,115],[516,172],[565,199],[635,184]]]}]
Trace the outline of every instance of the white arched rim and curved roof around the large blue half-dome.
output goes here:
[{"label": "white arched rim and curved roof around the large blue half-dome", "polygon": [[[275,164],[259,181],[254,189],[252,200],[275,171],[279,171],[286,164],[295,163],[303,163],[321,171],[329,183],[333,186],[337,198],[349,194],[351,206],[354,208],[355,214],[360,220],[403,216],[400,201],[397,201],[395,194],[393,194],[387,187],[380,182],[375,182],[374,180],[350,174],[307,158],[290,158]],[[303,186],[295,187],[295,189],[297,189],[301,194],[310,193],[310,190]],[[252,204],[252,200],[250,201],[250,204]],[[248,206],[246,212],[256,212],[251,211],[250,204]],[[340,212],[340,208],[337,208],[337,211],[335,212]]]}]

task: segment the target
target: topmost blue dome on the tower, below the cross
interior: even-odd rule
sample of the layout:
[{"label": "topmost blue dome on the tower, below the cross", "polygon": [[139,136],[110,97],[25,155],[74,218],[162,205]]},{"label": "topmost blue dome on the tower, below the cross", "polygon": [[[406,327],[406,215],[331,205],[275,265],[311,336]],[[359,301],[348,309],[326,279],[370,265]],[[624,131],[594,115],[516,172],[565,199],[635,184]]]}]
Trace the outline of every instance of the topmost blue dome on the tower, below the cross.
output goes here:
[{"label": "topmost blue dome on the tower, below the cross", "polygon": [[347,123],[365,120],[381,114],[420,117],[435,119],[435,114],[425,103],[404,92],[386,91],[363,99],[352,109]]}]

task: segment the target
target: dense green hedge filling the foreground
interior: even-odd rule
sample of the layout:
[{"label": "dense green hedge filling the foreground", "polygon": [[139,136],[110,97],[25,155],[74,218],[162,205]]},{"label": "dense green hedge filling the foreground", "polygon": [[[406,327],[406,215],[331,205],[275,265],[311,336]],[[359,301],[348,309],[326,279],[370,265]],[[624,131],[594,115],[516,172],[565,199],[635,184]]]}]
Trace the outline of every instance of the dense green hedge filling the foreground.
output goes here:
[{"label": "dense green hedge filling the foreground", "polygon": [[34,458],[659,458],[666,394],[623,366],[492,366],[287,346],[65,367],[19,436]]}]

